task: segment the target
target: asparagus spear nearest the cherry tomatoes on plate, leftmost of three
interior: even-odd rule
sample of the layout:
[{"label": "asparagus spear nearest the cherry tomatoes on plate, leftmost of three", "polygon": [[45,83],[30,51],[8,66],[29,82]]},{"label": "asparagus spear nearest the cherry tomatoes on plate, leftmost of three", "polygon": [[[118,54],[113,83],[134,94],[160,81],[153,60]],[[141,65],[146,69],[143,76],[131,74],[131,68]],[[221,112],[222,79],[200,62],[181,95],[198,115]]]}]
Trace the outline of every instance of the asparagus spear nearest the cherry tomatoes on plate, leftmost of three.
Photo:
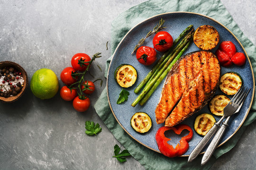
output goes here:
[{"label": "asparagus spear nearest the cherry tomatoes on plate, leftmost of three", "polygon": [[[177,42],[180,41],[180,39],[187,34],[187,32],[192,28],[193,25],[188,26],[180,35],[179,37],[174,40],[173,46],[164,53],[164,55],[157,61],[155,66],[152,68],[152,70],[146,75],[146,77],[140,82],[140,84],[137,86],[137,88],[134,90],[134,93],[138,93],[140,89],[146,84],[152,75],[156,72],[156,69],[159,67],[159,65],[164,61],[165,57],[168,56],[168,54],[174,49],[174,46],[177,44]],[[151,79],[152,80],[152,79]]]}]

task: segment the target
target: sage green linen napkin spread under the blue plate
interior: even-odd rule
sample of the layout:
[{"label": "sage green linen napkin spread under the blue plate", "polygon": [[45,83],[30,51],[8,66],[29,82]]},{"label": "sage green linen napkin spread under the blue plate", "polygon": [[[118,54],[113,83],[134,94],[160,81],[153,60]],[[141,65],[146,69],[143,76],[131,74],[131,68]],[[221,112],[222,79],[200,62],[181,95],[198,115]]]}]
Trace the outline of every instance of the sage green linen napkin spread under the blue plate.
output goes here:
[{"label": "sage green linen napkin spread under the blue plate", "polygon": [[[148,17],[172,11],[189,11],[204,14],[216,19],[224,26],[228,27],[229,30],[232,31],[243,44],[254,68],[254,74],[256,75],[256,60],[253,58],[253,56],[256,55],[256,47],[242,33],[220,0],[149,0],[132,7],[123,12],[112,22],[111,54],[113,54],[123,36],[133,26],[137,25],[139,22]],[[111,57],[106,62],[105,76],[107,76],[110,60]],[[167,158],[160,153],[156,153],[146,148],[132,139],[114,118],[108,103],[106,88],[101,93],[101,96],[95,103],[94,108],[117,140],[126,149],[128,149],[131,155],[137,161],[139,161],[146,170],[208,170],[215,162],[216,158],[219,158],[219,156],[222,154],[227,153],[237,144],[240,136],[246,129],[246,126],[256,119],[255,101],[256,100],[254,99],[252,108],[242,127],[240,127],[238,132],[232,136],[228,142],[217,148],[214,153],[215,158],[212,156],[210,161],[204,166],[201,166],[202,155],[200,155],[195,161],[187,163],[187,157]]]}]

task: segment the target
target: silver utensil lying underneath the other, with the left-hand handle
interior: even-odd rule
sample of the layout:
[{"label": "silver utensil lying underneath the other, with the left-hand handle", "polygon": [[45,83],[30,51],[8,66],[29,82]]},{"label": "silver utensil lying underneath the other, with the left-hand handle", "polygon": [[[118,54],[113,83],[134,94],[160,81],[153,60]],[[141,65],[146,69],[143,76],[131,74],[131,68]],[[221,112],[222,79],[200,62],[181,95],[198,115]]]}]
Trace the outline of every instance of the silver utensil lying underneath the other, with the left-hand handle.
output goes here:
[{"label": "silver utensil lying underneath the other, with the left-hand handle", "polygon": [[[224,114],[219,119],[218,122],[214,123],[213,127],[208,131],[208,133],[201,139],[201,141],[197,144],[197,146],[194,148],[192,153],[189,155],[188,162],[193,161],[202,151],[202,149],[205,147],[205,145],[209,142],[210,138],[215,134],[215,132],[219,129],[220,124],[224,118],[227,116],[231,116],[238,108],[230,107],[231,101],[234,101],[233,99],[238,99],[239,96],[241,96],[242,88],[239,89],[238,93],[234,95],[234,97],[230,100],[230,102],[227,104],[227,106],[224,108]],[[239,107],[239,106],[238,106]],[[229,109],[228,109],[229,108]]]}]

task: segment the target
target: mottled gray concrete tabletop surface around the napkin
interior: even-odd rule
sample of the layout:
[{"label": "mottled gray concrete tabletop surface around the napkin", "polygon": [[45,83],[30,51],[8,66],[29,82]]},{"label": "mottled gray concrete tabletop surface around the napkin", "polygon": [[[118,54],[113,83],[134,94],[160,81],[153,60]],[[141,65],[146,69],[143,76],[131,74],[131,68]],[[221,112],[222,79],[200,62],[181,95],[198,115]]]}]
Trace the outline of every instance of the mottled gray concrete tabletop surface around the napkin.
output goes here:
[{"label": "mottled gray concrete tabletop surface around the napkin", "polygon": [[[145,0],[0,0],[0,61],[18,62],[29,81],[39,68],[50,68],[59,77],[71,66],[73,54],[102,52],[91,73],[104,79],[110,57],[111,21],[121,12]],[[256,44],[255,0],[222,0],[247,37]],[[110,44],[110,43],[109,43]],[[110,49],[110,45],[109,45]],[[90,75],[88,79],[94,80]],[[60,81],[62,86],[62,82]],[[94,105],[102,87],[90,96]],[[98,136],[84,134],[84,122],[102,127]],[[256,163],[256,122],[249,125],[235,148],[221,156],[210,170],[253,170]],[[28,88],[12,104],[0,103],[0,170],[144,170],[134,158],[119,163],[113,147],[119,142],[91,106],[76,112],[72,102],[59,94],[37,99]],[[120,144],[119,144],[120,145]]]}]

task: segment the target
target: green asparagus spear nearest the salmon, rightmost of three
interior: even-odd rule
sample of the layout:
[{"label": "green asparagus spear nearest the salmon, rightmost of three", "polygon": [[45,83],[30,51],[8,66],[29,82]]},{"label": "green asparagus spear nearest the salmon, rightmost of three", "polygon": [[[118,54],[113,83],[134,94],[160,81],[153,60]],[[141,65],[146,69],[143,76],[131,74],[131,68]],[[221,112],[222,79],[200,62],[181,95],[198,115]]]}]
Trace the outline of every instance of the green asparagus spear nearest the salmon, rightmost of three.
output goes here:
[{"label": "green asparagus spear nearest the salmon, rightmost of three", "polygon": [[[192,39],[192,38],[191,38]],[[146,95],[141,99],[139,104],[142,106],[143,104],[146,103],[148,98],[152,95],[152,93],[155,91],[156,87],[162,82],[162,80],[165,78],[165,76],[169,73],[171,68],[173,67],[174,63],[180,59],[182,56],[183,52],[187,50],[187,48],[190,45],[190,42],[187,42],[186,46],[182,49],[182,51],[179,52],[179,54],[174,58],[174,60],[171,62],[171,64],[167,67],[167,69],[164,71],[164,73],[158,78],[158,80],[155,82],[155,84],[152,86],[152,88],[146,93]]]}]

